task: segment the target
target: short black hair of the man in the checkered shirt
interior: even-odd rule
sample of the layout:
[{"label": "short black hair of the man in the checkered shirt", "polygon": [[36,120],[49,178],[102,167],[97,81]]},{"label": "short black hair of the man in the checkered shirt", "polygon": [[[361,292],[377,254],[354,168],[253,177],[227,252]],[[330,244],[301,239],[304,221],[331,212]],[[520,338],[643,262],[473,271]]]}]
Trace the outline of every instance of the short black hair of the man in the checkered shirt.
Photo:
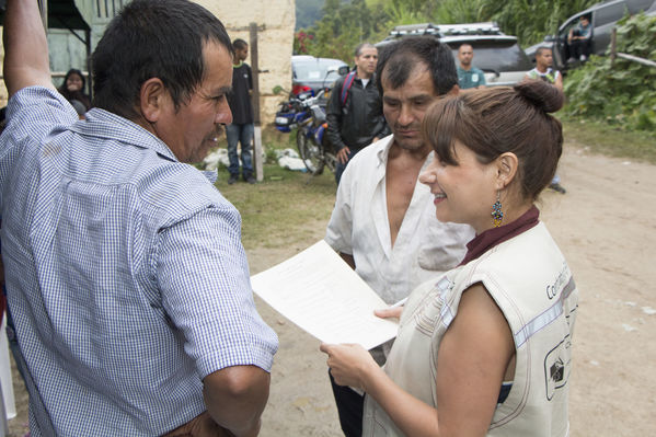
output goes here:
[{"label": "short black hair of the man in the checkered shirt", "polygon": [[203,81],[203,48],[215,42],[232,56],[221,22],[188,0],[134,0],[108,24],[92,56],[94,105],[128,119],[143,82],[159,78],[177,110]]}]

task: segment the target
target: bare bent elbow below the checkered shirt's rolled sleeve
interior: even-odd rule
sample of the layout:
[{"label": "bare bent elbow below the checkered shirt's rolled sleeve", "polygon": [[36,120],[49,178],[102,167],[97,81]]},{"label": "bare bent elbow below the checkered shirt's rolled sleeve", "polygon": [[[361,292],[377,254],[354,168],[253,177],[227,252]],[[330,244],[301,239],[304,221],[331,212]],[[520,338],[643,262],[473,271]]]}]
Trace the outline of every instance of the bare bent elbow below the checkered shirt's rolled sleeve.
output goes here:
[{"label": "bare bent elbow below the checkered shirt's rolled sleeve", "polygon": [[268,372],[256,366],[227,367],[203,382],[205,405],[217,424],[238,437],[260,433],[260,417],[268,400]]}]

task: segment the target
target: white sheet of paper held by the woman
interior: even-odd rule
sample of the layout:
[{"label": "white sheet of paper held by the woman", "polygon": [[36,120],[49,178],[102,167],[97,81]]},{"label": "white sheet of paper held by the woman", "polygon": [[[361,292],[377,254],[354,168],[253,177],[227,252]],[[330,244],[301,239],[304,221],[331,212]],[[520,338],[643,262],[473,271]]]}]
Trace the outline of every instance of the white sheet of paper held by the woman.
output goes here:
[{"label": "white sheet of paper held by the woman", "polygon": [[394,319],[377,318],[388,304],[323,240],[251,277],[253,291],[324,343],[370,349],[396,336]]}]

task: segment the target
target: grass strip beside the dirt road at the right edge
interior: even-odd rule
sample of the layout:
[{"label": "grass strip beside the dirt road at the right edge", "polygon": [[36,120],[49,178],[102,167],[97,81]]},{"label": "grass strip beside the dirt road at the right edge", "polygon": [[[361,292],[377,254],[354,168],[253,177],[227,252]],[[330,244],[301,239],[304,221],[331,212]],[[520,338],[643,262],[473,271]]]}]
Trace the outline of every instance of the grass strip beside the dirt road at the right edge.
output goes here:
[{"label": "grass strip beside the dirt road at the right edge", "polygon": [[560,118],[565,139],[587,146],[594,153],[656,164],[656,133],[621,130],[588,119]]}]

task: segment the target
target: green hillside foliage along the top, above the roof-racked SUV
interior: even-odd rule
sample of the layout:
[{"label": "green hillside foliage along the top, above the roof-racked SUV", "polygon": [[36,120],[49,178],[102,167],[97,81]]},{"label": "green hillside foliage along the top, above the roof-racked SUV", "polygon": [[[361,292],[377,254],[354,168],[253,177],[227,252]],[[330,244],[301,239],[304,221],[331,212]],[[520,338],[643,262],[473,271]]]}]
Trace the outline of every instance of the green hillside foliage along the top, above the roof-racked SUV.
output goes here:
[{"label": "green hillside foliage along the top, above the roof-racked SUV", "polygon": [[[376,43],[400,24],[495,21],[522,46],[554,34],[559,25],[598,0],[325,0],[323,16],[306,27],[309,41],[297,41],[296,53],[350,62],[361,42]],[[300,34],[299,34],[300,35]],[[302,49],[301,49],[302,47]]]}]

